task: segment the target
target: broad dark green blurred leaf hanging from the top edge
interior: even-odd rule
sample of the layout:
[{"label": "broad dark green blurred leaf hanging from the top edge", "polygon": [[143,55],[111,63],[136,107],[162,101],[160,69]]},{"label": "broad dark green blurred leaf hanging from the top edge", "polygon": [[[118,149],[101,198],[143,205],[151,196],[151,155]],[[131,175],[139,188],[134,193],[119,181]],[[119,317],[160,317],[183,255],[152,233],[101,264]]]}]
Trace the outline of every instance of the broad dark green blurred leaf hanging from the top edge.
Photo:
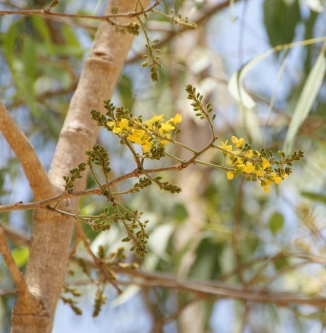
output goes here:
[{"label": "broad dark green blurred leaf hanging from the top edge", "polygon": [[264,24],[271,46],[291,43],[295,27],[301,21],[298,1],[286,4],[284,0],[265,0]]}]

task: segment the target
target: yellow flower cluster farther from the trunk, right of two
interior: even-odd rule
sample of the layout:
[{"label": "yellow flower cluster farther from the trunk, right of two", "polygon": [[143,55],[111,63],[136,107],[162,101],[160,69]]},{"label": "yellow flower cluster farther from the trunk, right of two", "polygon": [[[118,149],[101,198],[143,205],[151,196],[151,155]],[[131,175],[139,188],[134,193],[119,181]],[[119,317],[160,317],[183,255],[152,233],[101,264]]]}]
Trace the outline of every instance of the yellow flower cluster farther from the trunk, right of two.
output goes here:
[{"label": "yellow flower cluster farther from the trunk, right of two", "polygon": [[252,180],[258,179],[259,184],[268,193],[270,191],[269,185],[272,183],[280,184],[288,176],[285,172],[282,174],[273,172],[268,160],[261,156],[257,150],[243,149],[243,138],[238,139],[236,136],[232,136],[231,141],[236,148],[241,150],[233,150],[232,144],[227,144],[228,140],[222,141],[222,145],[219,146],[225,156],[228,156],[227,163],[232,167],[226,172],[228,179],[233,179],[234,176],[239,174],[250,177]]}]

